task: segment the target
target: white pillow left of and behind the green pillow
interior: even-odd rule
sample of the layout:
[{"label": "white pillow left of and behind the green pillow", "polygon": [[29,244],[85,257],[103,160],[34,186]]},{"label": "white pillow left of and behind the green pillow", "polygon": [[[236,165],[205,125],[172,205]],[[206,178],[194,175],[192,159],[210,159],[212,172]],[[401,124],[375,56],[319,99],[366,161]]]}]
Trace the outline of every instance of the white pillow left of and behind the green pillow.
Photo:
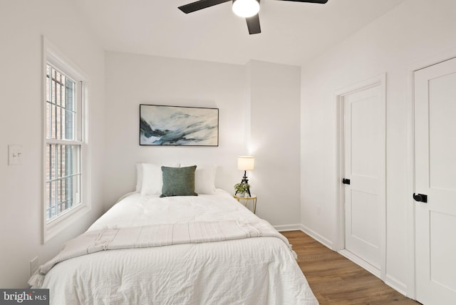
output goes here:
[{"label": "white pillow left of and behind the green pillow", "polygon": [[[180,167],[180,164],[170,163],[164,165],[167,167]],[[136,164],[136,191],[141,192],[141,195],[160,195],[162,193],[163,176],[162,165],[152,163],[137,163]]]}]

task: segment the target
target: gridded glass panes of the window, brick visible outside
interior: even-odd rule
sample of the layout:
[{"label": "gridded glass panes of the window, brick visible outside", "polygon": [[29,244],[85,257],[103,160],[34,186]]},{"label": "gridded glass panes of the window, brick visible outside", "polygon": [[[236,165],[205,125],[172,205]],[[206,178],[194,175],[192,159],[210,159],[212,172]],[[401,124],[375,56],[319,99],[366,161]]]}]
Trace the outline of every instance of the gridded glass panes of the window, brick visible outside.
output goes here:
[{"label": "gridded glass panes of the window, brick visible outside", "polygon": [[46,65],[46,221],[81,204],[77,85]]}]

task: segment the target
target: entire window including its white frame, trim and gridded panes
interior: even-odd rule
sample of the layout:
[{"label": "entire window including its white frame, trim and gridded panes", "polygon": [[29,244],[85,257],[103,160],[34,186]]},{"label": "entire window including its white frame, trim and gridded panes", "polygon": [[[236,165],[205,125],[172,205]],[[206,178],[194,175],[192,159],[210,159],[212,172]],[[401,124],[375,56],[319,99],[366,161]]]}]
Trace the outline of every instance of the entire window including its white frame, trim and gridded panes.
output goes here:
[{"label": "entire window including its white frame, trim and gridded panes", "polygon": [[43,43],[43,242],[90,206],[84,197],[83,78]]}]

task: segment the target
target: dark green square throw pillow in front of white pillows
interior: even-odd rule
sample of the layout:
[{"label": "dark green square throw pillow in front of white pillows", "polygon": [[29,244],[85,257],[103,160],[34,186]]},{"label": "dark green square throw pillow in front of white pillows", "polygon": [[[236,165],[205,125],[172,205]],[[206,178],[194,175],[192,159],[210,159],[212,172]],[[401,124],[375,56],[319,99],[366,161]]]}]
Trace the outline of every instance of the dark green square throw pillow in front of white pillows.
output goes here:
[{"label": "dark green square throw pillow in front of white pillows", "polygon": [[197,196],[195,192],[196,165],[189,167],[162,166],[163,187],[160,197]]}]

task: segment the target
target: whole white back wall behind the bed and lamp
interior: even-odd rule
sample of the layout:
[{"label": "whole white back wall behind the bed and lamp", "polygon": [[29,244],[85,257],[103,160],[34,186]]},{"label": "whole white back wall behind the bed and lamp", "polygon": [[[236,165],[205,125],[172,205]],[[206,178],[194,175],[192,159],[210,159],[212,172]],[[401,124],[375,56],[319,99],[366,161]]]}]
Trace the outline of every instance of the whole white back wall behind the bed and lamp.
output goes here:
[{"label": "whole white back wall behind the bed and lamp", "polygon": [[[299,68],[256,61],[239,66],[107,52],[105,208],[135,189],[136,162],[218,165],[217,187],[233,192],[243,175],[237,156],[253,153],[257,166],[248,176],[259,196],[258,214],[273,225],[298,224],[299,78]],[[140,146],[140,103],[219,108],[219,147]],[[259,138],[264,141],[252,150]],[[291,152],[278,168],[269,162],[283,144]],[[290,183],[279,181],[284,170],[290,172]],[[292,190],[278,208],[274,201],[283,198],[288,183]]]}]

